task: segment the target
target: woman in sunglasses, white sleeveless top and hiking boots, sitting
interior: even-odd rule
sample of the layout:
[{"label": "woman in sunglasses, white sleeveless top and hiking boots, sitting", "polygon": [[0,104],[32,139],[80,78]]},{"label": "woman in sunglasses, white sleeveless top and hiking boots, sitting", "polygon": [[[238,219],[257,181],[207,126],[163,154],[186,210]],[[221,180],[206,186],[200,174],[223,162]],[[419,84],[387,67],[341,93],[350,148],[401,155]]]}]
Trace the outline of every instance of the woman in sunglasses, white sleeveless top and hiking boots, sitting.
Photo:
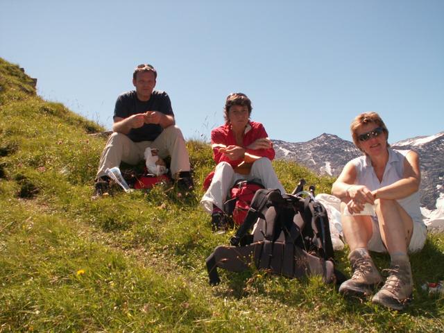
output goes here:
[{"label": "woman in sunglasses, white sleeveless top and hiking boots, sitting", "polygon": [[403,309],[413,290],[408,253],[420,250],[427,237],[420,214],[419,157],[414,151],[390,148],[388,130],[375,112],[359,114],[350,130],[364,156],[348,162],[332,187],[332,194],[342,201],[341,221],[353,271],[339,292],[371,295],[383,280],[368,251],[387,252],[388,278],[372,300]]}]

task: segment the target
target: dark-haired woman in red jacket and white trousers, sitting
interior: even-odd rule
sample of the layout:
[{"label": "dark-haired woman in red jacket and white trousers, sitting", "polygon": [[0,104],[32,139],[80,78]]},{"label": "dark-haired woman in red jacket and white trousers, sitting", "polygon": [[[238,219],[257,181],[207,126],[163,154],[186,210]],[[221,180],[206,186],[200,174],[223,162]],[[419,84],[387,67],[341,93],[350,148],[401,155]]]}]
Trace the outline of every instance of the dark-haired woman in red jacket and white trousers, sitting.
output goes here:
[{"label": "dark-haired woman in red jacket and white trousers, sitting", "polygon": [[212,214],[214,228],[224,228],[223,203],[237,180],[256,180],[267,189],[285,193],[271,165],[273,144],[262,123],[250,121],[251,101],[240,92],[225,101],[225,124],[212,130],[211,143],[216,169],[207,176],[210,186],[200,203]]}]

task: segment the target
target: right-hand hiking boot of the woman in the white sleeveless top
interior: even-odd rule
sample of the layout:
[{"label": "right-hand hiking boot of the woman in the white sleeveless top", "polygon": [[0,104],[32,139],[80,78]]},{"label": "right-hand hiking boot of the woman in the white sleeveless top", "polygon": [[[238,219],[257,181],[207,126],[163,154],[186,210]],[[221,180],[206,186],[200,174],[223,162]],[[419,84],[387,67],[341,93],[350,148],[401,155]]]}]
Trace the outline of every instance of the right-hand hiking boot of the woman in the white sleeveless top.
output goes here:
[{"label": "right-hand hiking boot of the woman in the white sleeveless top", "polygon": [[373,296],[372,302],[393,310],[404,309],[411,300],[413,278],[410,262],[393,262],[388,269],[388,278],[384,287]]}]

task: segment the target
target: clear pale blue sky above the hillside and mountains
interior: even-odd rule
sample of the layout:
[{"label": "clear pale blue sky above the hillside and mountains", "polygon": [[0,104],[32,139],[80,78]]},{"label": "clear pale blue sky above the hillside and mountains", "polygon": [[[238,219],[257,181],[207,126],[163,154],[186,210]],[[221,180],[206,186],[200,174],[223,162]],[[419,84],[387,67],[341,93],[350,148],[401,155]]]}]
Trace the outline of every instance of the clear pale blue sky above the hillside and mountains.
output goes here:
[{"label": "clear pale blue sky above the hillside and mountains", "polygon": [[350,139],[376,111],[393,143],[444,130],[443,17],[441,0],[0,0],[0,57],[105,128],[147,62],[188,139],[244,92],[272,139]]}]

